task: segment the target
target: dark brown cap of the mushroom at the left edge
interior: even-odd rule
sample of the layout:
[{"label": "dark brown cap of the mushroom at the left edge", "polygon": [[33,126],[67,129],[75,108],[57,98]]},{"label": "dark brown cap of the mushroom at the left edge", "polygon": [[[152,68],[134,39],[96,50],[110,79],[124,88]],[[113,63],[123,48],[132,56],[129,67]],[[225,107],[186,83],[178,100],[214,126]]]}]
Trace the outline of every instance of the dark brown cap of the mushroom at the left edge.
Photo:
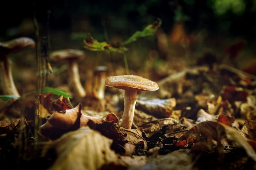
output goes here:
[{"label": "dark brown cap of the mushroom at the left edge", "polygon": [[14,54],[26,47],[35,47],[35,41],[29,37],[20,37],[7,42],[0,42],[0,52]]}]

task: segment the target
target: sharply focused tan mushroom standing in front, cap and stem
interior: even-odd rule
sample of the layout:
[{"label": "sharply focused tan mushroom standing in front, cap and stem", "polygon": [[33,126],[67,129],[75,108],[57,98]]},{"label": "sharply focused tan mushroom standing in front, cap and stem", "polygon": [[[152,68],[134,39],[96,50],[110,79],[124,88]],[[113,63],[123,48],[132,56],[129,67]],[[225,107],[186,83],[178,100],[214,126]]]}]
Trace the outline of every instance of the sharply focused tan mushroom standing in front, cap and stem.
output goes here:
[{"label": "sharply focused tan mushroom standing in front, cap and stem", "polygon": [[123,121],[120,126],[126,129],[131,129],[137,91],[155,91],[159,89],[156,82],[135,75],[110,76],[105,79],[104,83],[106,86],[125,90],[125,107]]}]

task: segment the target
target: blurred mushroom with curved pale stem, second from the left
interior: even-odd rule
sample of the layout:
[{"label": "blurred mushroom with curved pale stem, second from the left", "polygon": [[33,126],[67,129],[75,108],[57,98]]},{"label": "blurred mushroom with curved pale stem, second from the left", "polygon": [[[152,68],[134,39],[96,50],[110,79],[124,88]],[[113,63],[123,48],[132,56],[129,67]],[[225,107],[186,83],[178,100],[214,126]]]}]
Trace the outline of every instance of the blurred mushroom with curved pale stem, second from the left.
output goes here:
[{"label": "blurred mushroom with curved pale stem, second from the left", "polygon": [[69,87],[74,89],[76,95],[78,95],[80,98],[85,97],[86,92],[80,81],[77,61],[83,59],[84,57],[84,51],[75,49],[56,50],[51,53],[50,57],[54,61],[64,60],[68,62]]}]

